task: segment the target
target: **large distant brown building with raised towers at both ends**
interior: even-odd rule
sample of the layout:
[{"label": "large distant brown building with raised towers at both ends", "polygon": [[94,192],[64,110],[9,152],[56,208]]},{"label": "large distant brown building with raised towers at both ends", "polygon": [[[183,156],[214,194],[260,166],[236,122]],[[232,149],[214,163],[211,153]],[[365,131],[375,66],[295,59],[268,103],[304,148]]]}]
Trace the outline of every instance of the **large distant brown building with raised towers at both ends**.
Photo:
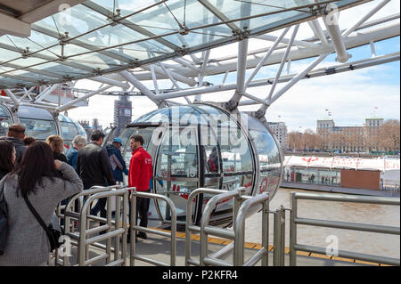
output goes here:
[{"label": "large distant brown building with raised towers at both ends", "polygon": [[377,150],[377,134],[383,118],[365,118],[364,126],[335,126],[333,119],[318,119],[316,133],[323,150],[364,152]]}]

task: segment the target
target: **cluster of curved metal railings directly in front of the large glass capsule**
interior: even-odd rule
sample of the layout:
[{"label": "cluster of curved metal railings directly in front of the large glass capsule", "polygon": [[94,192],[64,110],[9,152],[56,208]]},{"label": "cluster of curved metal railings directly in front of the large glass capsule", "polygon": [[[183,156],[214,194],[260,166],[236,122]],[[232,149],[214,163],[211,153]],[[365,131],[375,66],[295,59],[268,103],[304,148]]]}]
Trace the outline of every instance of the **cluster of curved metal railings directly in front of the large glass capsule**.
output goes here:
[{"label": "cluster of curved metal railings directly in front of the large glass capsule", "polygon": [[[216,194],[213,198],[209,199],[208,204],[203,210],[201,217],[201,226],[192,224],[192,200],[198,195]],[[255,265],[258,261],[262,260],[262,265],[268,264],[268,194],[263,193],[256,197],[244,196],[245,188],[239,188],[234,191],[220,191],[213,189],[198,189],[192,191],[190,194],[187,207],[186,207],[186,227],[185,227],[185,265]],[[223,229],[209,225],[210,215],[217,207],[219,202],[223,200],[233,199],[233,230]],[[262,248],[258,252],[250,257],[250,259],[244,263],[244,224],[245,218],[247,217],[251,208],[263,205],[263,221],[262,221]],[[200,259],[196,261],[191,257],[191,233],[198,232],[201,235],[201,248],[200,248]],[[213,255],[208,255],[208,240],[209,234],[225,238],[233,239],[233,242],[222,247]],[[220,258],[233,251],[233,264],[227,263]]]}]

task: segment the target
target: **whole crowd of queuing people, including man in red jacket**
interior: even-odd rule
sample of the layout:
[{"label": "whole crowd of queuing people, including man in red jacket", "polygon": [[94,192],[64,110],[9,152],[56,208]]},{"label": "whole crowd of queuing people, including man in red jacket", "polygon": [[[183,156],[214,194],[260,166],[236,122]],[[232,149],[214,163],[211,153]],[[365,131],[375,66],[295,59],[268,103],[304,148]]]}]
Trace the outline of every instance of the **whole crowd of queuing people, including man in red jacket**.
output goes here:
[{"label": "whole crowd of queuing people, including man in red jacket", "polygon": [[[71,196],[93,186],[123,184],[123,174],[128,176],[128,187],[151,191],[152,159],[143,149],[143,137],[130,139],[133,152],[128,171],[121,155],[121,139],[116,137],[102,147],[104,136],[102,131],[94,130],[91,141],[87,142],[86,137],[77,135],[65,153],[59,135],[50,135],[45,142],[36,141],[35,137],[25,135],[25,127],[20,124],[13,124],[7,136],[0,137],[0,199],[3,197],[8,211],[8,230],[3,242],[0,232],[0,265],[47,262],[50,243],[29,203],[45,223],[51,223],[60,202],[66,204]],[[90,214],[100,212],[105,218],[106,203],[107,199],[99,199]],[[150,199],[136,199],[136,216],[144,227],[148,223],[149,203]],[[135,241],[136,238],[147,239],[147,236],[140,232]]]}]

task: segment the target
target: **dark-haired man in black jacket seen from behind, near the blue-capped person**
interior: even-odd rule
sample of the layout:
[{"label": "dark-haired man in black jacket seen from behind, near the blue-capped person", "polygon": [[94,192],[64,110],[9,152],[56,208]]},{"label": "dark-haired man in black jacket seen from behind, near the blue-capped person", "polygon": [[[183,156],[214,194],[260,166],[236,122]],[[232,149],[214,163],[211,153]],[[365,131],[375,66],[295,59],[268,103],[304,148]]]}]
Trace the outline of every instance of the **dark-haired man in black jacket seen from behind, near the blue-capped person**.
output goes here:
[{"label": "dark-haired man in black jacket seen from behind, near the blue-capped person", "polygon": [[[92,142],[78,150],[77,173],[84,183],[84,190],[94,185],[110,186],[115,185],[113,174],[111,174],[110,160],[107,150],[102,148],[104,134],[100,130],[94,130],[91,135]],[[101,216],[106,217],[107,199],[99,199],[98,203]],[[94,211],[91,211],[93,214]]]}]

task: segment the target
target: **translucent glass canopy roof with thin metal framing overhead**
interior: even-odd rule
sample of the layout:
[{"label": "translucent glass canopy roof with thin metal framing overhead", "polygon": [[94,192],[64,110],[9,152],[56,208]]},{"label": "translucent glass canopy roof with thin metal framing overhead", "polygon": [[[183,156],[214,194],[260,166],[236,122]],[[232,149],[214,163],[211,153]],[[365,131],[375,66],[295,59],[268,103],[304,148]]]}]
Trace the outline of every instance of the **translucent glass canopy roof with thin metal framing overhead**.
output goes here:
[{"label": "translucent glass canopy roof with thin metal framing overhead", "polygon": [[0,37],[0,85],[48,85],[135,68],[315,19],[326,12],[328,4],[341,9],[364,2],[93,0],[71,7],[62,4],[61,12],[31,23],[29,37]]}]

